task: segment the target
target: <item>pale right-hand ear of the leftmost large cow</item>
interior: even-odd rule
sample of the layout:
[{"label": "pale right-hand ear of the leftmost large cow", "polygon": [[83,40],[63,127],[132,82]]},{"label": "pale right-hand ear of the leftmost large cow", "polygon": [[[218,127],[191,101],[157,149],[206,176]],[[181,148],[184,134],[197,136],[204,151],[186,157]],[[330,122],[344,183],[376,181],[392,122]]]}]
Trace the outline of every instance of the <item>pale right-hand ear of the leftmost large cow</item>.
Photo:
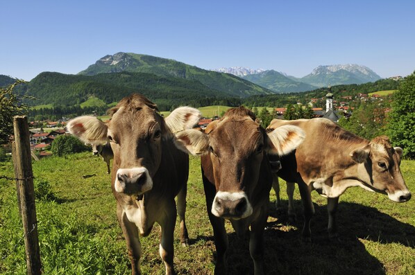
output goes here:
[{"label": "pale right-hand ear of the leftmost large cow", "polygon": [[194,125],[197,125],[202,114],[198,109],[192,107],[178,107],[164,118],[164,122],[170,131],[175,134],[177,132],[191,129]]}]

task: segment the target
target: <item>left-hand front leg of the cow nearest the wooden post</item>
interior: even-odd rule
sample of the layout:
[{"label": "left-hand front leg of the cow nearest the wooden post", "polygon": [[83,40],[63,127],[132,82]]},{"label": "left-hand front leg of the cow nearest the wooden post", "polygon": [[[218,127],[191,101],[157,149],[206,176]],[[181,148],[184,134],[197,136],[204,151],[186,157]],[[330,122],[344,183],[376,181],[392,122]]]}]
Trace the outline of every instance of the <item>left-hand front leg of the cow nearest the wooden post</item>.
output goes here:
[{"label": "left-hand front leg of the cow nearest the wooden post", "polygon": [[128,220],[127,215],[124,213],[119,204],[117,204],[117,218],[124,233],[124,238],[126,238],[128,256],[131,260],[132,274],[141,274],[139,259],[142,256],[142,248],[138,238],[138,228],[133,222]]}]

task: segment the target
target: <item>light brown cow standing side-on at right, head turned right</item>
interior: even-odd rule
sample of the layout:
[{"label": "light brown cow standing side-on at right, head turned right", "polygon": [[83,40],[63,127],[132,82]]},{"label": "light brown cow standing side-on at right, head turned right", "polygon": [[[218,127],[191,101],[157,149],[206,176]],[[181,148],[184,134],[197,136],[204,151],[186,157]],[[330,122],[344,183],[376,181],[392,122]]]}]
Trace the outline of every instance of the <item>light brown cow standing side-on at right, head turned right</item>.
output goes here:
[{"label": "light brown cow standing side-on at right, head turned right", "polygon": [[[352,134],[326,118],[282,121],[274,119],[267,129],[295,125],[304,130],[306,138],[295,153],[280,159],[278,176],[287,181],[289,215],[292,209],[294,182],[298,183],[305,223],[303,237],[310,239],[310,220],[314,214],[311,191],[328,198],[328,233],[337,236],[335,213],[339,196],[352,186],[388,195],[393,202],[407,202],[411,193],[400,172],[403,150],[393,148],[387,136],[368,141]],[[274,189],[279,190],[274,177]]]}]

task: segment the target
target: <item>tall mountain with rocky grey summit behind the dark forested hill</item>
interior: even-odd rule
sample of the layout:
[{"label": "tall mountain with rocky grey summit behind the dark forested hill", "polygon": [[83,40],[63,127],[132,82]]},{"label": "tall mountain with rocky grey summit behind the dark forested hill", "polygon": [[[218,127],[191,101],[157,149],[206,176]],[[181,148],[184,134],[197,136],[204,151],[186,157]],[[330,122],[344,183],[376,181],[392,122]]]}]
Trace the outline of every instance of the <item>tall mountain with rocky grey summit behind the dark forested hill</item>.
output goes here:
[{"label": "tall mountain with rocky grey summit behind the dark forested hill", "polygon": [[105,55],[96,61],[95,64],[88,66],[87,69],[78,74],[95,76],[99,73],[117,73],[121,71],[153,73],[156,76],[167,78],[198,81],[209,89],[221,92],[222,96],[246,97],[255,94],[274,94],[269,89],[228,73],[207,71],[183,62],[177,62],[176,60],[136,53]]}]

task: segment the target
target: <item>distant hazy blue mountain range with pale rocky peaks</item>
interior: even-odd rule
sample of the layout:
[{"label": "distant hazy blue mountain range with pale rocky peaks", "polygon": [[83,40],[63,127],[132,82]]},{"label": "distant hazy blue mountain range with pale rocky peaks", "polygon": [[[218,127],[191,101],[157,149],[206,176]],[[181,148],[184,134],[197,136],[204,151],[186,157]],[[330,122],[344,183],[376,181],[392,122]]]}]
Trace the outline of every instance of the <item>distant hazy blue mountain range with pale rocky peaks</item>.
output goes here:
[{"label": "distant hazy blue mountain range with pale rocky peaks", "polygon": [[318,66],[303,78],[287,76],[274,70],[264,71],[244,67],[221,68],[214,71],[232,73],[276,93],[310,91],[329,85],[363,84],[380,80],[380,76],[374,71],[357,64]]}]

